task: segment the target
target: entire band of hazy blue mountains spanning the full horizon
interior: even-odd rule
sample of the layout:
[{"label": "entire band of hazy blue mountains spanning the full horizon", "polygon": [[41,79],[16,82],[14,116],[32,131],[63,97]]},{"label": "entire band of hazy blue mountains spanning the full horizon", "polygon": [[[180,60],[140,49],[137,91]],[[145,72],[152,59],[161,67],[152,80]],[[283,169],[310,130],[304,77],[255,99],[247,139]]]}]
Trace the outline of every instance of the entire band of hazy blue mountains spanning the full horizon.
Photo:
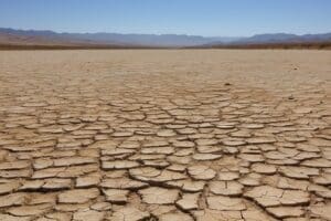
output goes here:
[{"label": "entire band of hazy blue mountains spanning the full horizon", "polygon": [[217,45],[246,45],[274,43],[331,42],[331,33],[324,34],[257,34],[249,38],[222,38],[179,34],[120,34],[120,33],[57,33],[53,31],[15,30],[0,28],[0,44],[9,45],[64,45],[64,46],[160,46],[190,48]]}]

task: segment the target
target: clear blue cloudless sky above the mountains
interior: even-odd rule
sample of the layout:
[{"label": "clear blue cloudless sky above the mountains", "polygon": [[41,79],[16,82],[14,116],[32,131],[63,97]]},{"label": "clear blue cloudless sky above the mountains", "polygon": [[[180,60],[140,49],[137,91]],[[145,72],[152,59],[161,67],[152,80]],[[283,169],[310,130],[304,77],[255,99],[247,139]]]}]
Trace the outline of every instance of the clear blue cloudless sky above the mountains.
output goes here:
[{"label": "clear blue cloudless sky above the mountains", "polygon": [[0,0],[0,27],[245,36],[331,32],[331,0]]}]

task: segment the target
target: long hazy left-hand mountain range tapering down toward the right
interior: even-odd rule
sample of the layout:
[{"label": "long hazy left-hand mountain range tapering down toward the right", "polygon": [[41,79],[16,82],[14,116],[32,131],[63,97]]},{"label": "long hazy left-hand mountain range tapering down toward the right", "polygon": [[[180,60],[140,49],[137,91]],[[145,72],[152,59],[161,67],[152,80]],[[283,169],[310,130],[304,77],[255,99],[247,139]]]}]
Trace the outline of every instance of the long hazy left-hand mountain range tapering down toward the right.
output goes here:
[{"label": "long hazy left-hand mountain range tapering down toward the right", "polygon": [[[2,38],[1,38],[2,36]],[[2,39],[2,41],[1,41]],[[180,34],[120,34],[120,33],[57,33],[53,31],[15,30],[0,28],[0,43],[39,44],[103,44],[139,46],[195,46],[210,42],[229,42],[239,38],[205,38]]]}]

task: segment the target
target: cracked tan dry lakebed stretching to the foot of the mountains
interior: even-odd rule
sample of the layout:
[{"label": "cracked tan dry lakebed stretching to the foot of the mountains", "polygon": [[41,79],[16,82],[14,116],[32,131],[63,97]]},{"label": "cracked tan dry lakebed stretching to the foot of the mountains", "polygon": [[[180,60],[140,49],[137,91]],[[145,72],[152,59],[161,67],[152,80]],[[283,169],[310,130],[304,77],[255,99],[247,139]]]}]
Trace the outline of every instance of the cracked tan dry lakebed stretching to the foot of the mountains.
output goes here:
[{"label": "cracked tan dry lakebed stretching to the foot of the mountains", "polygon": [[1,221],[331,220],[331,51],[1,51]]}]

